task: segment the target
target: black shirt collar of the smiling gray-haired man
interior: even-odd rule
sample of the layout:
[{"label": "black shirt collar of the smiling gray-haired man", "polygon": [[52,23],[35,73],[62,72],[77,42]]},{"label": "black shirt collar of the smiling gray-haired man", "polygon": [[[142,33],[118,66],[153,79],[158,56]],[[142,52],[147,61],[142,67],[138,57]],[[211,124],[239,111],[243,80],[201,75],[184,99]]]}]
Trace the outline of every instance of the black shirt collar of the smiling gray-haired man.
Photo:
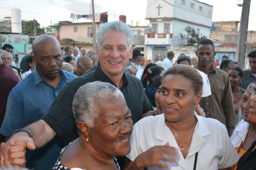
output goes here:
[{"label": "black shirt collar of the smiling gray-haired man", "polygon": [[[99,81],[103,81],[103,82],[108,82],[108,83],[111,83],[113,84],[115,87],[117,87],[117,85],[102,71],[101,69],[101,66],[100,66],[100,63],[98,63],[96,69],[95,69],[95,74],[94,74],[94,77],[95,77],[95,80],[99,80]],[[128,84],[128,79],[126,77],[126,74],[123,73],[123,85],[126,85]]]}]

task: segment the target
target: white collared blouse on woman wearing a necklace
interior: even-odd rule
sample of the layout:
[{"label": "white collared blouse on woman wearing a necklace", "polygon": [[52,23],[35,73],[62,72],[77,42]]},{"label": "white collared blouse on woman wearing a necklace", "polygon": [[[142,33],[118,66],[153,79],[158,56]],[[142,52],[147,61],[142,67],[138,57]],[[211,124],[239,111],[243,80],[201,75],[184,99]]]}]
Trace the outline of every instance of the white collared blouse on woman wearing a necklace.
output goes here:
[{"label": "white collared blouse on woman wearing a necklace", "polygon": [[[198,121],[188,154],[184,159],[179,150],[181,156],[178,167],[171,167],[171,170],[193,170],[196,152],[197,170],[218,170],[234,165],[239,155],[229,139],[226,127],[215,119],[201,117],[196,113],[194,115]],[[126,157],[134,161],[142,152],[167,142],[170,146],[178,148],[173,133],[164,121],[164,114],[145,117],[138,121],[133,127],[130,154]]]}]

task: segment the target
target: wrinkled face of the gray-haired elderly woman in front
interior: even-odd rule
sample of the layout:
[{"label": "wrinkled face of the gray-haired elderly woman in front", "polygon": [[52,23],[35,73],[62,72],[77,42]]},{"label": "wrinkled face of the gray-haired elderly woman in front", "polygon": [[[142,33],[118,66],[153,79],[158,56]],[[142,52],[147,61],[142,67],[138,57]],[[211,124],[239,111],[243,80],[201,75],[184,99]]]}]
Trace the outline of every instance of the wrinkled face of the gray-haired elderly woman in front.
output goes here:
[{"label": "wrinkled face of the gray-haired elderly woman in front", "polygon": [[100,106],[99,117],[95,119],[94,127],[89,130],[92,147],[103,155],[128,155],[133,130],[131,116],[123,98],[108,99]]}]

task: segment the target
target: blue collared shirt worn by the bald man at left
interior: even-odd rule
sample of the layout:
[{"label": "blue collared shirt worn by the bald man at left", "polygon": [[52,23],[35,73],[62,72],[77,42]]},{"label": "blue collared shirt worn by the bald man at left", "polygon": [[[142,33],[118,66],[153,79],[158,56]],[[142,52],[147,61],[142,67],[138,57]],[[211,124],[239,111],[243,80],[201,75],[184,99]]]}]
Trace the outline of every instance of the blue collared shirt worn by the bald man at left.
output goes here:
[{"label": "blue collared shirt worn by the bald man at left", "polygon": [[[62,87],[77,77],[63,70],[60,74],[60,82],[57,88],[54,88],[41,78],[35,68],[11,90],[7,100],[6,114],[0,128],[3,136],[11,136],[14,130],[38,121],[47,113]],[[40,149],[27,151],[26,167],[36,170],[51,169],[63,146],[60,139],[54,138]]]}]

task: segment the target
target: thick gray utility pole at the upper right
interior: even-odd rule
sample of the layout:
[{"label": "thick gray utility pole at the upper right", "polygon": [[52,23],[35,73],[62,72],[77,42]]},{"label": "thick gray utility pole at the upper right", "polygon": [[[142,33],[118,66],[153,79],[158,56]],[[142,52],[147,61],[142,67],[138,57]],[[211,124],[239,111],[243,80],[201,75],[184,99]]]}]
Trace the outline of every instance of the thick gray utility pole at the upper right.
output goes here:
[{"label": "thick gray utility pole at the upper right", "polygon": [[240,28],[238,35],[237,51],[235,60],[238,61],[238,66],[244,69],[244,58],[246,51],[246,40],[247,40],[247,30],[248,30],[248,20],[250,13],[250,3],[251,0],[243,0],[242,14],[240,20]]}]

